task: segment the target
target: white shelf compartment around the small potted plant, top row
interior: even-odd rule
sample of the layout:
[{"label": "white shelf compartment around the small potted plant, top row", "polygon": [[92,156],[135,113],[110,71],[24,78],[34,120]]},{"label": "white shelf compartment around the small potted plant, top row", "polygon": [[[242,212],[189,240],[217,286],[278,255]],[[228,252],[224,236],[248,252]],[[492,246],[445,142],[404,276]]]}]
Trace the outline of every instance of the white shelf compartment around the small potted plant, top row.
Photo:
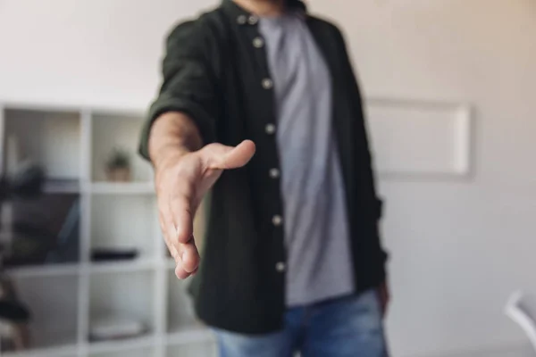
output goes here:
[{"label": "white shelf compartment around the small potted plant, top row", "polygon": [[107,180],[105,163],[115,149],[121,149],[130,154],[132,181],[148,182],[152,179],[151,166],[138,155],[138,140],[143,121],[142,115],[93,113],[91,145],[93,181]]}]

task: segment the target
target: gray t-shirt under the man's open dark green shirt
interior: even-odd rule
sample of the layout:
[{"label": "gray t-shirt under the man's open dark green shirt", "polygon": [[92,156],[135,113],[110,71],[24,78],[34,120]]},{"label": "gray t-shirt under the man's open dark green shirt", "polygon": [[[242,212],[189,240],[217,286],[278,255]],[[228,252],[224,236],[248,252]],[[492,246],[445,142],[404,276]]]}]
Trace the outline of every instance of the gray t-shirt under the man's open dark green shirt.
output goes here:
[{"label": "gray t-shirt under the man's open dark green shirt", "polygon": [[300,12],[263,18],[277,107],[288,306],[354,291],[331,76]]}]

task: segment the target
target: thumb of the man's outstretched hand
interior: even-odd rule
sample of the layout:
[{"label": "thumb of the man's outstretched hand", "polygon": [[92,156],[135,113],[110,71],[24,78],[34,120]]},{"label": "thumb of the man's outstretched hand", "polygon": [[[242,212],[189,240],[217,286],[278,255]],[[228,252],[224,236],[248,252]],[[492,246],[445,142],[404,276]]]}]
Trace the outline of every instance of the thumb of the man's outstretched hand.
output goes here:
[{"label": "thumb of the man's outstretched hand", "polygon": [[201,155],[201,159],[208,169],[238,169],[251,160],[255,154],[255,144],[251,140],[244,140],[235,147],[209,144],[202,148],[198,154]]}]

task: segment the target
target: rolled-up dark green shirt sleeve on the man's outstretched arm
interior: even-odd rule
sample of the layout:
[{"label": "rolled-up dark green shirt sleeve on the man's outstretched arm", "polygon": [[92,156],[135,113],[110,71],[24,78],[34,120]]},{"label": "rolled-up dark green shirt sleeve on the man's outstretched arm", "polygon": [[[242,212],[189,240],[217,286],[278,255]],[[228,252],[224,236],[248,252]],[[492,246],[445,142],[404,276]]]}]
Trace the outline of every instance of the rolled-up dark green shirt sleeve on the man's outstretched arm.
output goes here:
[{"label": "rolled-up dark green shirt sleeve on the man's outstretched arm", "polygon": [[187,114],[197,124],[203,141],[214,141],[218,105],[206,37],[206,31],[201,29],[197,21],[188,21],[173,29],[167,38],[162,87],[149,108],[139,143],[139,154],[147,160],[152,124],[164,112]]}]

